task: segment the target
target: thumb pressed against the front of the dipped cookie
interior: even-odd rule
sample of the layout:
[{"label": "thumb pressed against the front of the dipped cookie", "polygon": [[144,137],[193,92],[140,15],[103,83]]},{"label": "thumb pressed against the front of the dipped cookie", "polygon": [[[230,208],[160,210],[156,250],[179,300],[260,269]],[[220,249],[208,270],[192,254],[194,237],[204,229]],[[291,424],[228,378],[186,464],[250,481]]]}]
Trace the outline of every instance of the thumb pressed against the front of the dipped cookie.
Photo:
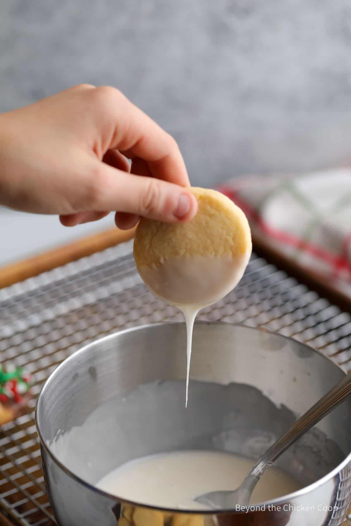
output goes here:
[{"label": "thumb pressed against the front of the dipped cookie", "polygon": [[116,210],[149,219],[179,222],[192,219],[197,200],[185,187],[154,177],[127,174],[100,163],[94,210]]}]

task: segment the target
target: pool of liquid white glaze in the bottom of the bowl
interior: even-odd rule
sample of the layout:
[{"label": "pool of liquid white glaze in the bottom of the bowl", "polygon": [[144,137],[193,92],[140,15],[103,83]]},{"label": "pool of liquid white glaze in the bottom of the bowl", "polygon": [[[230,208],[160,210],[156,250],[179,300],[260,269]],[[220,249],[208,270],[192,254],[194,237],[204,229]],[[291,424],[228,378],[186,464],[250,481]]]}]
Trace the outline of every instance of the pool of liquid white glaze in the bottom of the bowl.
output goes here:
[{"label": "pool of liquid white glaze in the bottom of the bowl", "polygon": [[[235,489],[254,461],[216,451],[163,453],[127,462],[96,485],[108,493],[142,504],[174,509],[204,509],[194,502],[200,494]],[[258,482],[251,503],[265,502],[300,489],[272,467]]]}]

